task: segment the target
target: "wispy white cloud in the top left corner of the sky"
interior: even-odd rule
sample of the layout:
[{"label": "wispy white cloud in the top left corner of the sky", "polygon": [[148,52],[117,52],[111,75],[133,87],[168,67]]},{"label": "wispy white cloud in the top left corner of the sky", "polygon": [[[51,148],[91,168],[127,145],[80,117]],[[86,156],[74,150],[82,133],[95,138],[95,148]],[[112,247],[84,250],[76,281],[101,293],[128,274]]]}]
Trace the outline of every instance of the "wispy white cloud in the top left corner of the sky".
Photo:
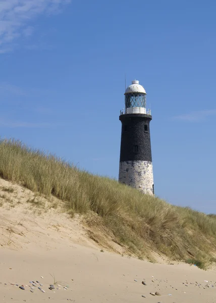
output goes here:
[{"label": "wispy white cloud in the top left corner of the sky", "polygon": [[71,0],[0,0],[0,54],[11,51],[18,37],[32,35],[30,22],[41,14],[59,13]]}]

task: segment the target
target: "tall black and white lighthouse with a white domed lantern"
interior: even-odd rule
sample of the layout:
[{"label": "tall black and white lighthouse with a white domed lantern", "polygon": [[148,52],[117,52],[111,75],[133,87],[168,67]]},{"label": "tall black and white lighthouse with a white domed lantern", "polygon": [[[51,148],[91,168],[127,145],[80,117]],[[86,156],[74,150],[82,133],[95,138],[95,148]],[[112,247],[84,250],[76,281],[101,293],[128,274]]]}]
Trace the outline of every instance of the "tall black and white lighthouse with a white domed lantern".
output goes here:
[{"label": "tall black and white lighthouse with a white domed lantern", "polygon": [[119,182],[153,195],[151,119],[151,110],[146,109],[146,91],[134,80],[125,91],[125,109],[119,116],[122,122]]}]

